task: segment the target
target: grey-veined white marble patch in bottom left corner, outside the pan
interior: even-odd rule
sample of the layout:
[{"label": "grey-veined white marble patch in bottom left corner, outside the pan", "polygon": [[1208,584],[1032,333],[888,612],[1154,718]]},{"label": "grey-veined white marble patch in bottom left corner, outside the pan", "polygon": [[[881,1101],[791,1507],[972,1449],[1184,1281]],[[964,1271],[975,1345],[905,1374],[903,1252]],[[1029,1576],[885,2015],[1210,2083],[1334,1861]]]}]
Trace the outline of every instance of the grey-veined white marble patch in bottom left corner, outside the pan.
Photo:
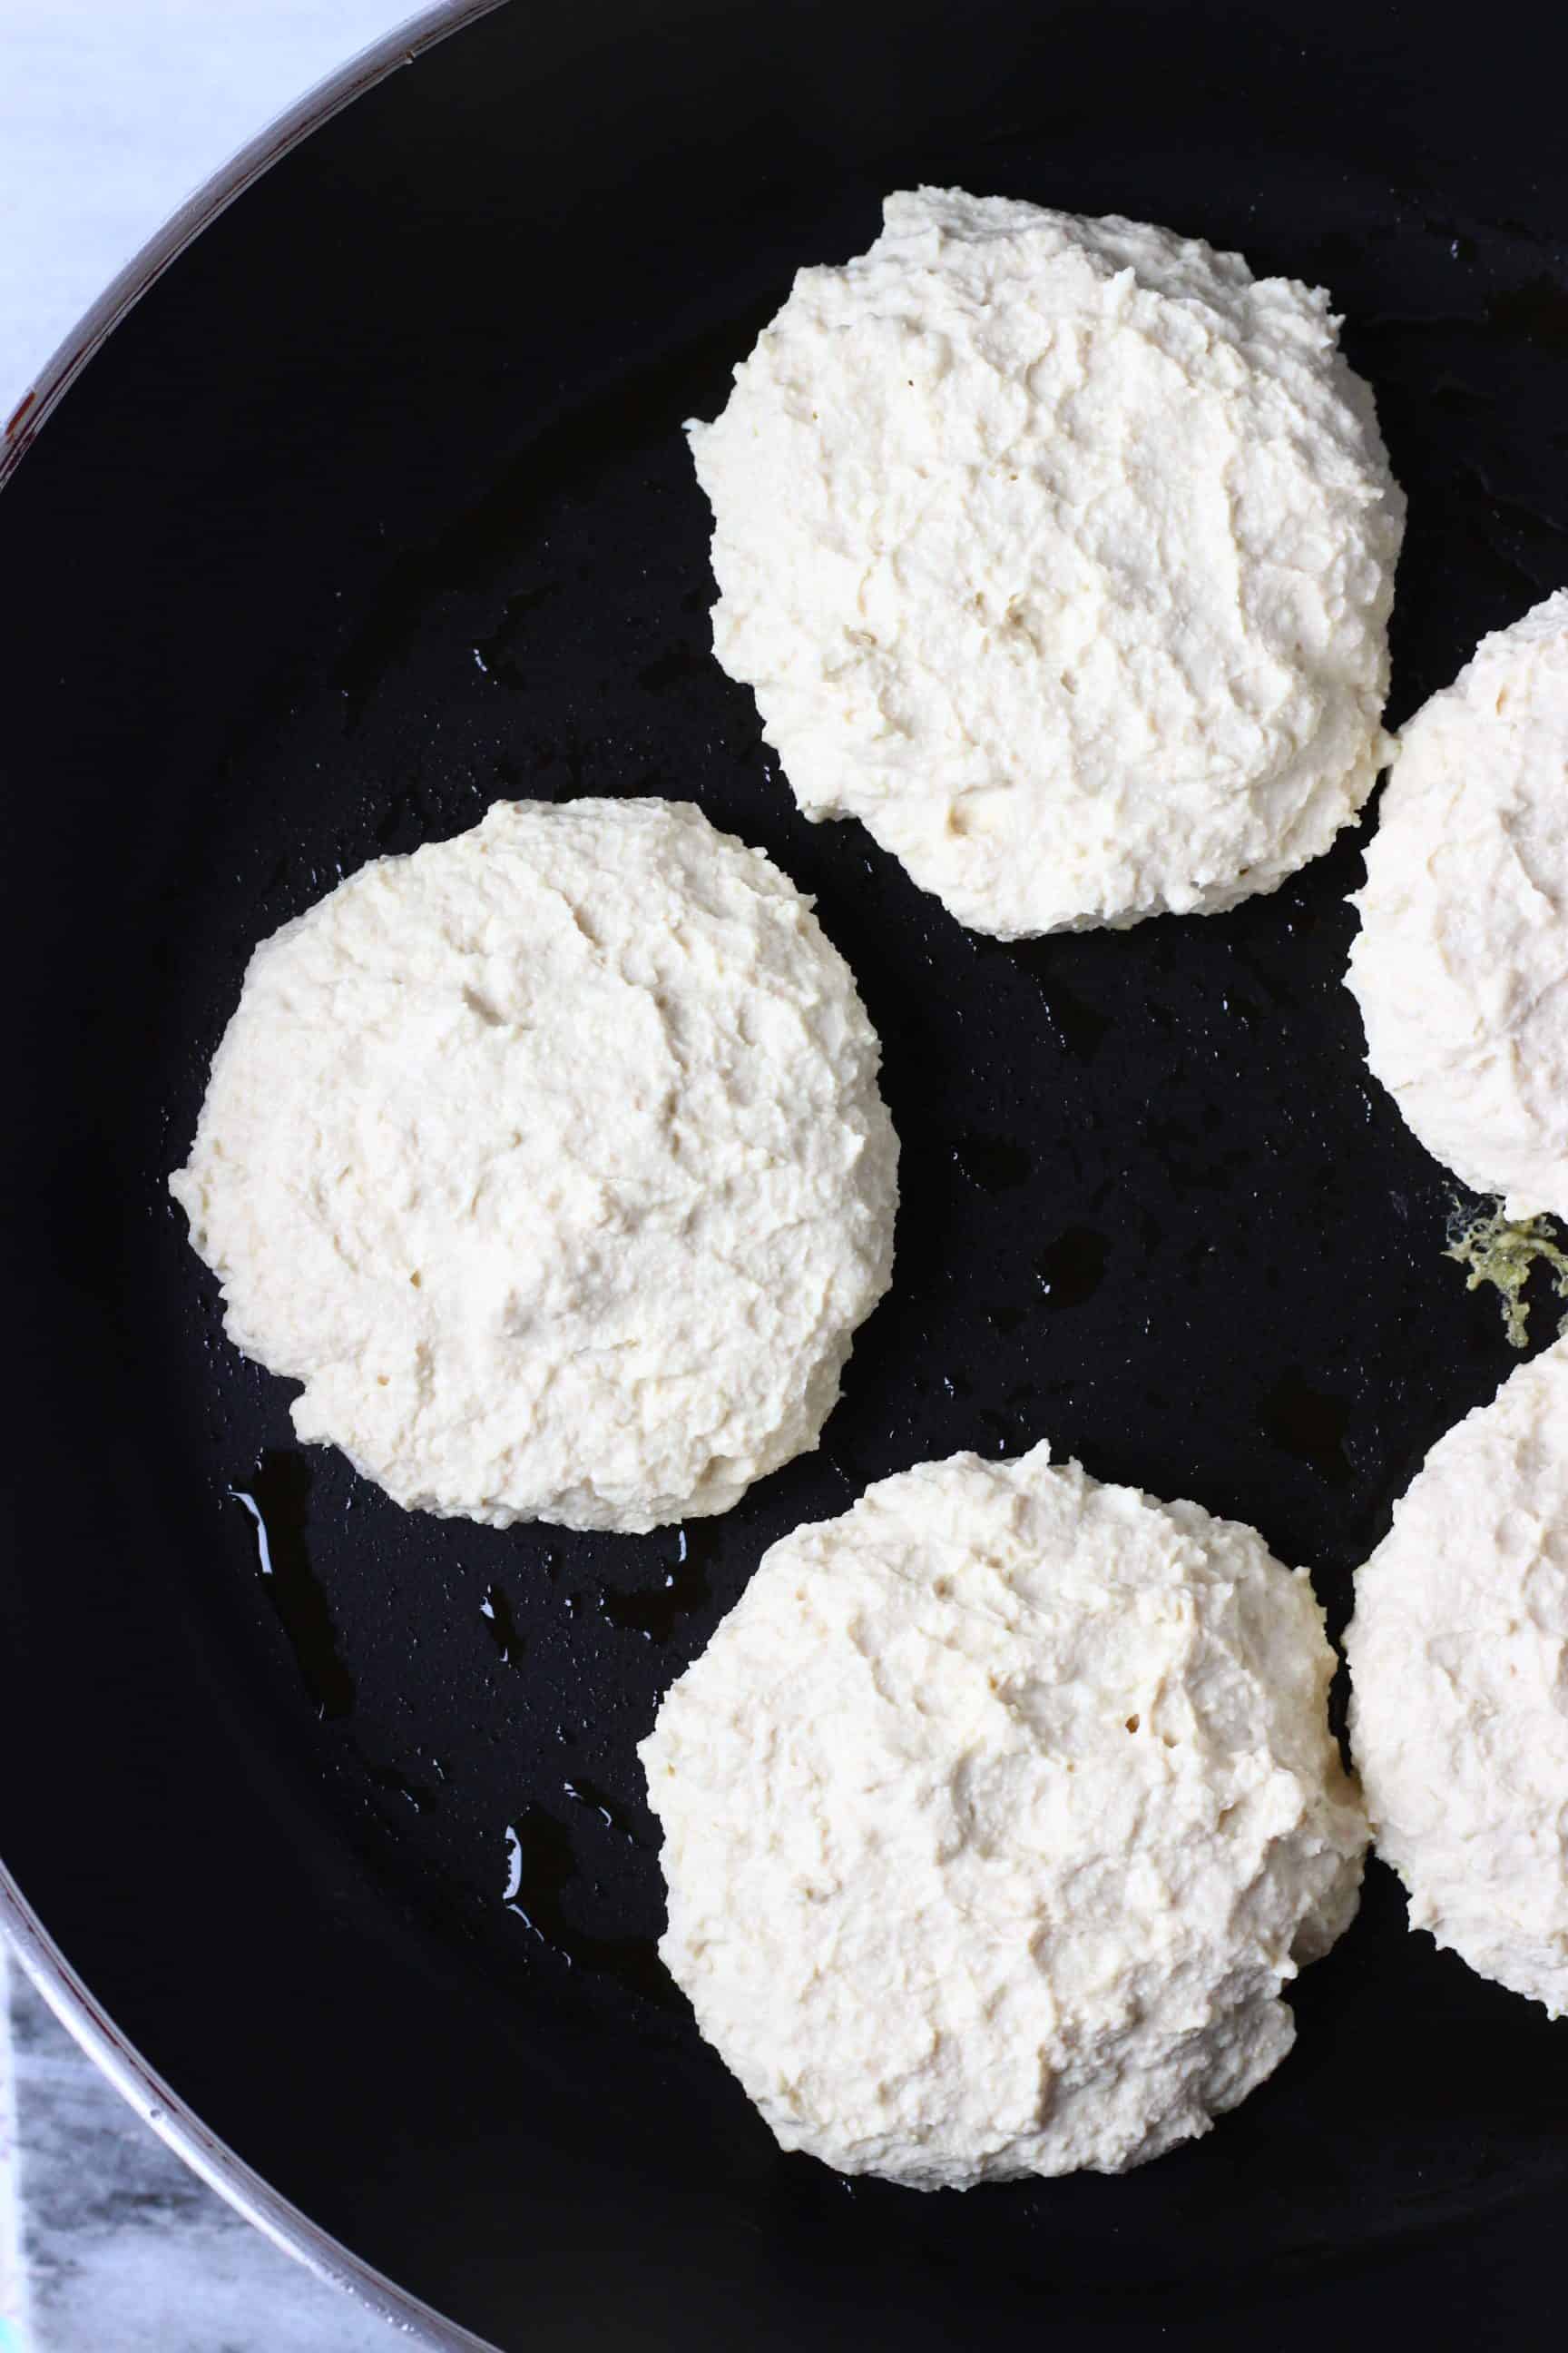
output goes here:
[{"label": "grey-veined white marble patch in bottom left corner, outside the pan", "polygon": [[0,2353],[407,2348],[197,2181],[2,1948],[0,2019]]}]

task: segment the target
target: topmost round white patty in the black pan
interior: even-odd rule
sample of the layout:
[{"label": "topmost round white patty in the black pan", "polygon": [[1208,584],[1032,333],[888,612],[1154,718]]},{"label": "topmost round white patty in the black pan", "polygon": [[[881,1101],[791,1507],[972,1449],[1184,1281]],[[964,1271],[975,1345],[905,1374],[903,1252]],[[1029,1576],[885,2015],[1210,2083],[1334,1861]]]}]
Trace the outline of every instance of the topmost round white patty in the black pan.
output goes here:
[{"label": "topmost round white patty in the black pan", "polygon": [[1114,216],[884,209],[689,426],[795,798],[1001,939],[1274,889],[1385,751],[1403,499],[1328,296]]}]

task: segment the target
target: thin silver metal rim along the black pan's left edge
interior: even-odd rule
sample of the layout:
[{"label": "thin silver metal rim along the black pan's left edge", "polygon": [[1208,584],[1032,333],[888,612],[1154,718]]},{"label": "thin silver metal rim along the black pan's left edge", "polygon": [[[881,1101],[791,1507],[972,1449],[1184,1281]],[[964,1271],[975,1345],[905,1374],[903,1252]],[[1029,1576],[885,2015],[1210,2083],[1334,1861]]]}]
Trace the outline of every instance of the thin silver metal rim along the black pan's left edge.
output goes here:
[{"label": "thin silver metal rim along the black pan's left edge", "polygon": [[[503,0],[435,0],[395,26],[346,66],[315,82],[294,106],[268,122],[212,179],[186,198],[162,228],[125,264],[99,299],[82,313],[63,344],[45,360],[33,384],[0,426],[0,487],[16,473],[38,433],[96,358],[115,327],[141,301],[150,285],[186,247],[226,212],[237,195],[259,181],[282,155],[341,113],[353,99],[374,89],[397,66],[411,66],[425,49],[489,16]],[[355,2304],[378,2313],[416,2344],[437,2353],[496,2353],[484,2339],[442,2318],[430,2304],[397,2287],[386,2273],[353,2254],[301,2207],[292,2205],[254,2167],[212,2132],[120,2033],[87,1984],[71,1967],[49,1929],[24,1897],[0,1857],[0,1939],[28,1974],[61,2026],[73,2035],[99,2073],[136,2111],[143,2125],[165,2141],[197,2179],[214,2188],[247,2224],[306,2271],[331,2282]]]}]

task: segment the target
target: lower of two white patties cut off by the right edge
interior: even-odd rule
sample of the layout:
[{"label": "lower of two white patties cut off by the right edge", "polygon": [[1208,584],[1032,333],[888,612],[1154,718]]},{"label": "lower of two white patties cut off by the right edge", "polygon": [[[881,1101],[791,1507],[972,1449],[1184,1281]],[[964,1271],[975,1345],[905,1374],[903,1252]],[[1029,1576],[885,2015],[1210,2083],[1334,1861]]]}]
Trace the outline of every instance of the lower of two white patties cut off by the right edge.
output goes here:
[{"label": "lower of two white patties cut off by the right edge", "polygon": [[1568,1341],[1432,1447],[1356,1574],[1378,1852],[1472,1969],[1568,2012]]}]

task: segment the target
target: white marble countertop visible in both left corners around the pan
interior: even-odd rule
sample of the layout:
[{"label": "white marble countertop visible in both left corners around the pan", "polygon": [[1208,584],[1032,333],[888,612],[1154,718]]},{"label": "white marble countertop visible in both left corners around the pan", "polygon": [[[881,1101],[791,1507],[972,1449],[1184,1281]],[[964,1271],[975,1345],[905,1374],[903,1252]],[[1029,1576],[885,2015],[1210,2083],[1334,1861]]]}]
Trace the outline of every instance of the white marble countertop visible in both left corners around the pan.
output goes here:
[{"label": "white marble countertop visible in both left corners around the pan", "polygon": [[[421,0],[2,0],[0,419],[202,181],[416,14]],[[397,2344],[197,2181],[0,1946],[0,2353]]]}]

